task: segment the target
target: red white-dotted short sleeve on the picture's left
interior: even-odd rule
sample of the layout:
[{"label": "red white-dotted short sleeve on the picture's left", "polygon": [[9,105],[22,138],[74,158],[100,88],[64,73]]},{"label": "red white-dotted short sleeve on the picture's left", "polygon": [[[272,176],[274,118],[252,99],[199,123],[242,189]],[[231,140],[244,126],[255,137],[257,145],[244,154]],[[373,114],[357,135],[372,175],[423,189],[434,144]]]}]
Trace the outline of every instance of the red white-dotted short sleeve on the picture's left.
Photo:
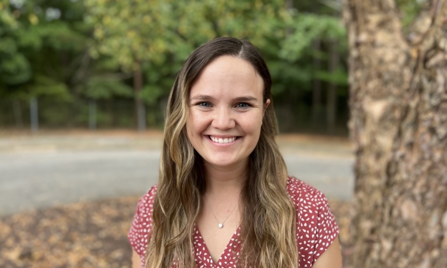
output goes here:
[{"label": "red white-dotted short sleeve on the picture's left", "polygon": [[156,193],[157,186],[154,186],[138,201],[128,233],[130,245],[141,257],[141,267],[144,267],[144,255],[152,229],[152,212]]}]

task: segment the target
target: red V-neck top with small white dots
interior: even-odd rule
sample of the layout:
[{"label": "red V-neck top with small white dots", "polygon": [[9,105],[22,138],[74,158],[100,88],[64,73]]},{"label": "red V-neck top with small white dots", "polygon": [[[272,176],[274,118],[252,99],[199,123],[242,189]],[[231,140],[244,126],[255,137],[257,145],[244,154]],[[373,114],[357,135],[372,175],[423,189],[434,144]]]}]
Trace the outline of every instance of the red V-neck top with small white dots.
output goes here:
[{"label": "red V-neck top with small white dots", "polygon": [[[300,268],[312,267],[318,257],[339,234],[339,227],[329,208],[326,197],[318,190],[294,177],[287,179],[287,191],[296,208],[296,244],[299,250]],[[152,187],[138,202],[128,238],[132,248],[144,255],[152,229],[152,211],[157,186]],[[217,263],[211,259],[206,244],[197,227],[194,228],[194,255],[198,268],[236,268],[240,252],[239,227]],[[174,263],[175,266],[175,263]]]}]

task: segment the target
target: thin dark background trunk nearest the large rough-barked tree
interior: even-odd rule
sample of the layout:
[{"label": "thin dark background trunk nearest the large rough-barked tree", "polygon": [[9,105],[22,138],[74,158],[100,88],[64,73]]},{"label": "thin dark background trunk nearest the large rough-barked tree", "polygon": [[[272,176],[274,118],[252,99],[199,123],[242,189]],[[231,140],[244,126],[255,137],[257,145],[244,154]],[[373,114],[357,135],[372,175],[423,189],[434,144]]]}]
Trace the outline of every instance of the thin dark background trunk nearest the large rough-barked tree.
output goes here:
[{"label": "thin dark background trunk nearest the large rough-barked tree", "polygon": [[[336,41],[330,44],[330,55],[329,55],[329,72],[334,73],[337,70],[340,62],[340,55],[337,52]],[[327,122],[327,132],[333,135],[335,132],[337,119],[337,84],[330,83],[327,87],[327,104],[326,104],[326,122]]]}]

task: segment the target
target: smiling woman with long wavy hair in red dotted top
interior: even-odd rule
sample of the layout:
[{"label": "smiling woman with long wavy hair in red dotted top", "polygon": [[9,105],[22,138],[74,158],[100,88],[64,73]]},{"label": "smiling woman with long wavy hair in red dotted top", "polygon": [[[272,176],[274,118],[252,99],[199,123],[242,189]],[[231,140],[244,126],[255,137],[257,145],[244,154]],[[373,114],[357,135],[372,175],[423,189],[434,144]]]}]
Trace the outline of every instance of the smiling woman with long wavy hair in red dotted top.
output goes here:
[{"label": "smiling woman with long wavy hair in red dotted top", "polygon": [[187,59],[169,97],[159,184],[129,231],[133,267],[342,267],[326,198],[287,176],[271,83],[248,41],[216,38]]}]

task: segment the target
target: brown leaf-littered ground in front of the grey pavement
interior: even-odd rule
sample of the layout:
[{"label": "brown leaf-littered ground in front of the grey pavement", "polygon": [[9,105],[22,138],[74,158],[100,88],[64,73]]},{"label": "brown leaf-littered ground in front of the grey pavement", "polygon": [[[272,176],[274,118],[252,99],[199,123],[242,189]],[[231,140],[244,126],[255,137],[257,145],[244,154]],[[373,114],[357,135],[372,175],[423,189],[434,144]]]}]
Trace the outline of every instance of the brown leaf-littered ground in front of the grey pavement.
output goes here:
[{"label": "brown leaf-littered ground in front of the grey pavement", "polygon": [[[0,218],[0,267],[131,267],[127,242],[139,197],[78,203]],[[350,253],[352,204],[330,200]]]}]

